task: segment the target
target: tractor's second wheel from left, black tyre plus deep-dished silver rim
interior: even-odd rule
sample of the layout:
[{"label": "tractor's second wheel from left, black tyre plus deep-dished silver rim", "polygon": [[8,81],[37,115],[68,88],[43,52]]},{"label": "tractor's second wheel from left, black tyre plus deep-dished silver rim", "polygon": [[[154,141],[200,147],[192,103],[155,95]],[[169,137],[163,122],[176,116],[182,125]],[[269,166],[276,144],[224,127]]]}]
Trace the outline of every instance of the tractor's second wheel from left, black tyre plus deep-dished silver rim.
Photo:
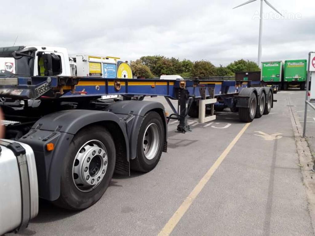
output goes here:
[{"label": "tractor's second wheel from left, black tyre plus deep-dished silver rim", "polygon": [[[149,172],[154,169],[162,155],[164,132],[161,116],[155,111],[146,113],[138,133],[136,158],[130,160],[132,170]],[[158,147],[154,143],[158,143]]]}]

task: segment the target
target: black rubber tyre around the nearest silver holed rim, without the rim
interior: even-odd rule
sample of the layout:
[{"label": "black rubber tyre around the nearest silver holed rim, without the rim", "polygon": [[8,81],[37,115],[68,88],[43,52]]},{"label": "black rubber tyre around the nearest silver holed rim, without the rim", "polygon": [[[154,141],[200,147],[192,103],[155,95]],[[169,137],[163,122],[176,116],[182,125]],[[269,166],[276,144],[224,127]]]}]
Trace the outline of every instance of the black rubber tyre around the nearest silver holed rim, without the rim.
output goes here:
[{"label": "black rubber tyre around the nearest silver holed rim, without the rim", "polygon": [[[73,166],[80,149],[82,150],[83,145],[88,143],[90,140],[98,140],[104,144],[107,152],[107,169],[100,180],[100,183],[97,183],[94,189],[88,192],[83,192],[79,190],[77,185],[74,183]],[[92,157],[92,160],[93,158],[94,157]],[[92,160],[90,164],[92,164]],[[53,203],[62,208],[75,211],[83,210],[95,204],[105,193],[109,183],[111,182],[115,169],[115,161],[115,143],[112,135],[104,127],[89,126],[79,131],[71,141],[68,152],[65,155],[60,180],[60,196]],[[97,180],[95,180],[95,182],[96,181]]]}]

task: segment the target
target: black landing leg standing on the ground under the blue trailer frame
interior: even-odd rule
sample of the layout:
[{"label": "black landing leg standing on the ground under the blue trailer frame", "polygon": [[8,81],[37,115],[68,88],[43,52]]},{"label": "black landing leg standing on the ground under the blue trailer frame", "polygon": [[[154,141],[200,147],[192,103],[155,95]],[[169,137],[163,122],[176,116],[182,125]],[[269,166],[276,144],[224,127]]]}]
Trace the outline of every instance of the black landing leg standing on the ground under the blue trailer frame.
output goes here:
[{"label": "black landing leg standing on the ground under the blue trailer frame", "polygon": [[[189,92],[186,89],[180,89],[177,93],[178,98],[178,120],[177,132],[186,133],[191,132],[189,125],[187,124],[187,106],[189,101]],[[191,101],[192,102],[192,101]]]}]

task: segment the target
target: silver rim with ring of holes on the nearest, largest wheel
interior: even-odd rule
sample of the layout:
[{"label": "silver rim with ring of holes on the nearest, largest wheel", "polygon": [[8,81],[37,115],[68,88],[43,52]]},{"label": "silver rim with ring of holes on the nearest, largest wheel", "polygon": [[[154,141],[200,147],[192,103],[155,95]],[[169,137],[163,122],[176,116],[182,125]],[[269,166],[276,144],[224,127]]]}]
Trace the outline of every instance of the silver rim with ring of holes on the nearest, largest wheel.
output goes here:
[{"label": "silver rim with ring of holes on the nearest, largest wheel", "polygon": [[99,140],[90,140],[79,148],[72,165],[72,179],[76,188],[90,192],[104,178],[108,156],[105,145]]}]

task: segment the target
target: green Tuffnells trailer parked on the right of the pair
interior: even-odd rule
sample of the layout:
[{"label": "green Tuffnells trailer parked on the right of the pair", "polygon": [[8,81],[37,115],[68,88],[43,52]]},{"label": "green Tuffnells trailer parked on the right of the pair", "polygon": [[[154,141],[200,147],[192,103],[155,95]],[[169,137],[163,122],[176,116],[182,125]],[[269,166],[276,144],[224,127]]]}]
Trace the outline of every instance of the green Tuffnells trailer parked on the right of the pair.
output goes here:
[{"label": "green Tuffnells trailer parked on the right of the pair", "polygon": [[305,90],[307,76],[307,60],[286,60],[284,62],[283,88],[300,87]]}]

